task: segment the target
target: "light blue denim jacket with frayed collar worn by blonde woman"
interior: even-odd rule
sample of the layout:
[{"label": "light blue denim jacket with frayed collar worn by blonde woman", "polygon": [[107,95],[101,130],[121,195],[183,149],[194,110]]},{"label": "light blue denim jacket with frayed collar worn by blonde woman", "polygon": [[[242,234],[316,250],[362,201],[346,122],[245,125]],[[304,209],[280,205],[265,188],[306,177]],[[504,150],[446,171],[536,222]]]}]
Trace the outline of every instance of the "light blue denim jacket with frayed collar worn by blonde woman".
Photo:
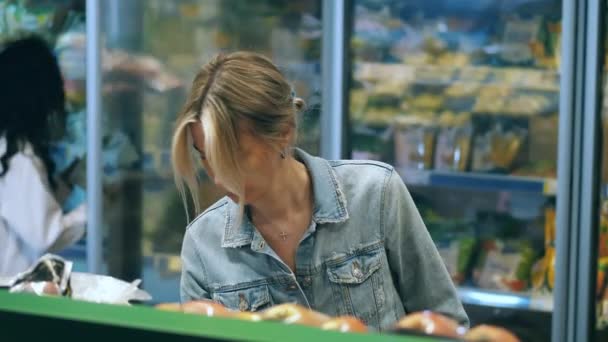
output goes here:
[{"label": "light blue denim jacket with frayed collar worn by blonde woman", "polygon": [[468,317],[395,170],[372,161],[327,161],[296,149],[312,179],[314,210],[296,255],[281,261],[238,205],[223,198],[187,228],[181,299],[242,311],[293,302],[390,328],[406,313]]}]

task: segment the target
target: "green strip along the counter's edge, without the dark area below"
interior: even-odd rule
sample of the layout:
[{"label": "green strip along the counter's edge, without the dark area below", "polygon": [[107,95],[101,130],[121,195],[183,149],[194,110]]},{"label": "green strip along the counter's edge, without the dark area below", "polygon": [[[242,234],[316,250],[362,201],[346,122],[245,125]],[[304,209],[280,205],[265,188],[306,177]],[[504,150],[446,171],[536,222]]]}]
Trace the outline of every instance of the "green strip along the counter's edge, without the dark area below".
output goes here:
[{"label": "green strip along the counter's edge, without the dark area below", "polygon": [[13,294],[5,290],[0,290],[0,311],[227,340],[277,341],[288,336],[290,341],[439,341],[378,333],[344,334],[272,322],[208,318],[147,306],[96,304],[62,297]]}]

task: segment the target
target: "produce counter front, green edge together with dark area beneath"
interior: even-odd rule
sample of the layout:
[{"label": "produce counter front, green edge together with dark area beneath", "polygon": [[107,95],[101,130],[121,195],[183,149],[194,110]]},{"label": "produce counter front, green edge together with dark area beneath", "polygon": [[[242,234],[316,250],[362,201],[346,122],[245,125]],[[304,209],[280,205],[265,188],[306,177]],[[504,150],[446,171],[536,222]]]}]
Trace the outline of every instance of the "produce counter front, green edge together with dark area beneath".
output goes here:
[{"label": "produce counter front, green edge together with dark area beneath", "polygon": [[0,290],[3,336],[29,341],[125,338],[180,341],[440,341],[437,338],[389,334],[352,334],[286,325],[209,318],[156,310],[147,306],[95,304],[63,297],[11,294]]}]

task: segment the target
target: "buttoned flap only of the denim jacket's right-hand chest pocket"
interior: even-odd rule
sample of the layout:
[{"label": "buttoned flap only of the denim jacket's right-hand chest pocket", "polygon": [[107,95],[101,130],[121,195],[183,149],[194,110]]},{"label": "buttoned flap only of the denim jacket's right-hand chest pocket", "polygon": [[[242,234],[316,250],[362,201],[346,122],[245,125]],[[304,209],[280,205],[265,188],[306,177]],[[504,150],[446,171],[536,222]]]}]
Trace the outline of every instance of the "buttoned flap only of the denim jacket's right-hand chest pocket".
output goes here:
[{"label": "buttoned flap only of the denim jacket's right-hand chest pocket", "polygon": [[338,284],[361,284],[382,265],[382,253],[372,251],[327,265],[329,280]]}]

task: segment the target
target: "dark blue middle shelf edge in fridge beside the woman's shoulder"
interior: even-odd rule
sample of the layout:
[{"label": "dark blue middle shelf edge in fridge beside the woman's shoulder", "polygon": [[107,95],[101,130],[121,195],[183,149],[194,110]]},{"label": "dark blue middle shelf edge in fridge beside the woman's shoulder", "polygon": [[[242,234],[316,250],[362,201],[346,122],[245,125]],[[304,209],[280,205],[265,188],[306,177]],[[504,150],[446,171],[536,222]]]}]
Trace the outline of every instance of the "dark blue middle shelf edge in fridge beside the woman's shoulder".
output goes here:
[{"label": "dark blue middle shelf edge in fridge beside the woman's shoulder", "polygon": [[441,186],[479,191],[516,191],[553,196],[554,178],[489,175],[471,172],[397,170],[404,182],[414,186]]}]

